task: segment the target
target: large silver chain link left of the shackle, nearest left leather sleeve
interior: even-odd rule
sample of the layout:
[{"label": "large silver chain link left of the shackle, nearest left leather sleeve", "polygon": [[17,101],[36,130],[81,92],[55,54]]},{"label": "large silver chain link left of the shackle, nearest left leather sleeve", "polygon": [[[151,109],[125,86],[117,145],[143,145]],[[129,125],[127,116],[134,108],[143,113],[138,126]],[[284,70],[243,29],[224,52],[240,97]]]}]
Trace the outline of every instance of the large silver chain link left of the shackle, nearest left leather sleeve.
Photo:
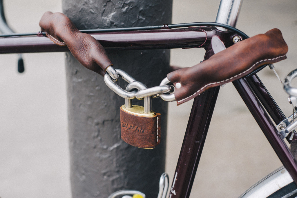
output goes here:
[{"label": "large silver chain link left of the shackle, nearest left leather sleeve", "polygon": [[[116,72],[119,74],[119,77],[124,79],[127,83],[136,81],[134,78],[132,78],[130,75],[128,75],[126,72],[124,72],[121,69],[116,69]],[[111,78],[111,76],[108,73],[106,73],[104,75],[104,82],[112,91],[114,91],[116,94],[118,94],[122,98],[125,98],[125,99],[135,98],[136,91],[131,91],[131,92],[125,91],[119,85],[117,85],[116,83],[113,82],[113,79]]]}]

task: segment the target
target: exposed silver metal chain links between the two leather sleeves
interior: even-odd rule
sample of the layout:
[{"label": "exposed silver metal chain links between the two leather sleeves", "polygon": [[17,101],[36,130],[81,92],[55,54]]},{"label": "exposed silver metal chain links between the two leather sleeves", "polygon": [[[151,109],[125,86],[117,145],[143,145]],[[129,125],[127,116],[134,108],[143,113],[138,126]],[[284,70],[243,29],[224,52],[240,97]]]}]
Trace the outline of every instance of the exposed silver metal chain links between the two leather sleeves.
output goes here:
[{"label": "exposed silver metal chain links between the two leather sleeves", "polygon": [[[110,66],[111,67],[111,66]],[[109,67],[108,67],[109,68]],[[113,69],[113,68],[111,68]],[[136,81],[132,76],[127,74],[121,69],[113,69],[115,72],[113,72],[113,77],[109,74],[110,72],[107,72],[104,75],[104,81],[105,84],[116,94],[121,96],[124,99],[143,99],[145,97],[150,96],[151,98],[156,98],[156,97],[161,97],[165,101],[174,101],[174,86],[173,85],[168,85],[170,81],[168,78],[165,78],[162,80],[159,86],[151,87],[151,88],[146,88],[142,90],[132,90],[132,91],[126,91],[122,89],[119,85],[116,84],[118,80],[115,80],[116,75],[119,76],[119,78],[122,78],[125,80],[127,83],[132,83]]]}]

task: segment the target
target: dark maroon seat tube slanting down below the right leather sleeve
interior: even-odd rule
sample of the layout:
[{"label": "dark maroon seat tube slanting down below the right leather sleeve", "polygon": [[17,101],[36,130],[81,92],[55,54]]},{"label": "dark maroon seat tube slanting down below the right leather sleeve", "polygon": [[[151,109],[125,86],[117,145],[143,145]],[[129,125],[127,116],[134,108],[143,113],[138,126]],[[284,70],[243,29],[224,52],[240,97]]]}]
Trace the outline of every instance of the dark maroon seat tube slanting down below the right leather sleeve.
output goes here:
[{"label": "dark maroon seat tube slanting down below the right leather sleeve", "polygon": [[210,88],[194,99],[169,198],[190,195],[219,88]]}]

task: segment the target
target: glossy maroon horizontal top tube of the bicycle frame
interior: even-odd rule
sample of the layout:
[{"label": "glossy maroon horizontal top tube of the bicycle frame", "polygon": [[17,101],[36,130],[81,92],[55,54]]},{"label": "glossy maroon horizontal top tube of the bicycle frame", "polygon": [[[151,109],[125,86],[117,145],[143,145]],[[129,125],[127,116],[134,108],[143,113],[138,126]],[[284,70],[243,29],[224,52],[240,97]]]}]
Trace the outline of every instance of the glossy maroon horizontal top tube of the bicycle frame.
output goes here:
[{"label": "glossy maroon horizontal top tube of the bicycle frame", "polygon": [[[216,33],[213,27],[105,32],[91,34],[106,49],[169,49],[200,47]],[[64,52],[44,36],[0,38],[0,53]]]}]

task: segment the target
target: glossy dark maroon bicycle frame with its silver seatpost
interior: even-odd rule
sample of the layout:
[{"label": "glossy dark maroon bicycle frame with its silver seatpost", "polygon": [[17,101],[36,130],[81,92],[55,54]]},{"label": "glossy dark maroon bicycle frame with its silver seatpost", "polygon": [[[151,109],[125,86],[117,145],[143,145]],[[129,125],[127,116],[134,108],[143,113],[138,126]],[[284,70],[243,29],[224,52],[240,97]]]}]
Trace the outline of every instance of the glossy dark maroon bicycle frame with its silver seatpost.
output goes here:
[{"label": "glossy dark maroon bicycle frame with its silver seatpost", "polygon": [[[227,1],[228,3],[226,3]],[[231,1],[227,1],[222,0],[221,4],[230,4]],[[236,7],[231,7],[232,9],[234,8],[232,14],[224,17],[219,14],[222,13],[219,11],[216,22],[235,26],[241,5],[241,1],[236,2]],[[235,18],[231,20],[230,16],[235,16]],[[212,55],[209,43],[212,36],[219,36],[224,41],[226,47],[228,47],[233,45],[230,38],[235,34],[233,32],[225,32],[222,28],[216,29],[214,27],[168,29],[164,26],[161,30],[103,32],[92,35],[109,50],[203,47],[206,49],[205,59],[208,59]],[[147,40],[150,40],[150,42],[147,42]],[[3,41],[1,39],[0,49],[1,53],[67,51],[66,47],[58,47],[49,39],[42,36],[12,37],[5,38]],[[297,183],[296,161],[285,145],[285,142],[278,136],[277,130],[269,118],[270,116],[274,123],[278,124],[285,119],[285,115],[274,102],[257,75],[255,75],[255,72],[248,77],[234,81],[233,84],[258,125],[263,130],[279,159],[295,183]],[[189,197],[218,93],[219,87],[211,88],[194,99],[181,153],[173,177],[170,197]],[[296,139],[297,136],[295,135],[293,140]],[[290,140],[288,141],[290,142]],[[184,164],[187,164],[187,167]]]}]

